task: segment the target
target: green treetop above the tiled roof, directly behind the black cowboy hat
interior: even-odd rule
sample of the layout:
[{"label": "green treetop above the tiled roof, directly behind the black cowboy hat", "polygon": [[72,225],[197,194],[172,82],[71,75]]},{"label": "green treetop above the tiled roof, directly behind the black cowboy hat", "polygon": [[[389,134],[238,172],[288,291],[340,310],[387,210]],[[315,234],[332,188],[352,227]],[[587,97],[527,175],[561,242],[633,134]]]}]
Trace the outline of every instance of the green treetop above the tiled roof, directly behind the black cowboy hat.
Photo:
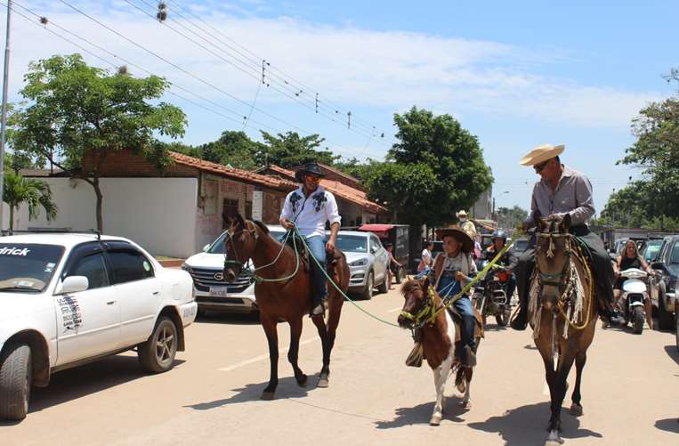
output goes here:
[{"label": "green treetop above the tiled roof, directly behind the black cowboy hat", "polygon": [[325,142],[318,134],[300,136],[295,132],[277,134],[276,136],[262,131],[263,146],[257,151],[256,161],[259,166],[271,163],[281,167],[299,166],[311,161],[332,166],[340,158],[325,148],[319,150]]}]

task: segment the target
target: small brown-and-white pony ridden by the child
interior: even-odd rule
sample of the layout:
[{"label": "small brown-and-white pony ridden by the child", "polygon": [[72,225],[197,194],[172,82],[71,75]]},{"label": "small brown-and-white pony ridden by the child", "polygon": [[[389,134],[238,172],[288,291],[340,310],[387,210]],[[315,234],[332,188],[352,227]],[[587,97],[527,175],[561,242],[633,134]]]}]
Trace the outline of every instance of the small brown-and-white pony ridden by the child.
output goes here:
[{"label": "small brown-and-white pony ridden by the child", "polygon": [[[433,290],[429,283],[429,277],[422,280],[411,279],[403,283],[400,292],[405,298],[403,310],[399,316],[401,328],[412,326],[417,314],[431,314],[431,309],[441,308],[441,297]],[[432,418],[429,424],[439,426],[446,406],[446,381],[457,369],[455,385],[460,393],[463,393],[462,405],[465,409],[471,408],[469,386],[472,382],[473,369],[460,367],[460,362],[455,354],[457,326],[450,317],[449,312],[441,311],[436,317],[427,321],[421,328],[421,344],[424,350],[424,358],[433,371],[433,382],[436,388],[436,402],[434,403]],[[479,345],[480,337],[476,339]]]}]

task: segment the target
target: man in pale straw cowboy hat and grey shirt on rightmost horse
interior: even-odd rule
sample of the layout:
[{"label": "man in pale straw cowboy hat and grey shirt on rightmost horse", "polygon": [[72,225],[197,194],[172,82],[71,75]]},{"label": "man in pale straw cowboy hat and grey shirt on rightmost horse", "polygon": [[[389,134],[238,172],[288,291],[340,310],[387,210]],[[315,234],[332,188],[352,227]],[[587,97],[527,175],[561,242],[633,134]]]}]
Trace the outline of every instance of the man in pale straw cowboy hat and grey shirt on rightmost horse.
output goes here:
[{"label": "man in pale straw cowboy hat and grey shirt on rightmost horse", "polygon": [[[596,283],[596,295],[602,306],[602,316],[618,323],[620,318],[610,310],[613,306],[613,269],[610,258],[603,247],[602,240],[589,231],[587,221],[594,215],[592,199],[592,183],[584,174],[564,166],[559,155],[565,150],[564,145],[553,147],[551,144],[538,146],[521,158],[522,166],[532,166],[541,180],[533,187],[530,202],[530,215],[523,223],[523,230],[528,231],[535,225],[533,215],[570,215],[570,232],[582,239],[592,258],[592,272]],[[535,235],[530,238],[529,247],[519,257],[516,265],[516,281],[519,288],[521,311],[512,320],[512,328],[525,329],[528,322],[528,295],[530,276],[535,268]]]}]

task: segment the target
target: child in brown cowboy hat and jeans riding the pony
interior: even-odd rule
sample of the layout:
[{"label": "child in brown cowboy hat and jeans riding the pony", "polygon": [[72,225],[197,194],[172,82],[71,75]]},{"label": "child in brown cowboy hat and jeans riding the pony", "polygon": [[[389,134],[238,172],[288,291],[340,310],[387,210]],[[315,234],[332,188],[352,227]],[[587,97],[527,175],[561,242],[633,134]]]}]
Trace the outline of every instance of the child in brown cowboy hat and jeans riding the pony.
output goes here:
[{"label": "child in brown cowboy hat and jeans riding the pony", "polygon": [[[440,229],[436,231],[436,235],[443,240],[443,252],[437,255],[433,262],[434,288],[441,298],[455,296],[477,272],[476,264],[469,255],[473,250],[473,241],[465,231],[455,226]],[[460,338],[463,348],[460,349],[460,361],[466,367],[473,367],[476,365],[474,354],[476,318],[472,300],[465,295],[457,299],[453,306],[462,316]]]}]

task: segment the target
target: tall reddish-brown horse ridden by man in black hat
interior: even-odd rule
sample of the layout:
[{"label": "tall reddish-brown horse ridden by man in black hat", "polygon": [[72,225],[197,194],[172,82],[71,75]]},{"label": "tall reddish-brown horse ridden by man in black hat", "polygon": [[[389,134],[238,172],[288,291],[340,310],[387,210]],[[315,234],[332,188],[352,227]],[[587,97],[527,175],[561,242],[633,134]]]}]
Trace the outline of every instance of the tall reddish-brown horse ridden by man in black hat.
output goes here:
[{"label": "tall reddish-brown horse ridden by man in black hat", "polygon": [[[295,255],[292,247],[282,247],[278,241],[271,238],[269,230],[263,223],[244,220],[240,215],[230,218],[227,223],[229,228],[224,244],[226,258],[230,262],[224,265],[224,279],[227,282],[236,280],[248,259],[252,259],[257,269],[256,274],[263,279],[255,285],[255,297],[262,327],[269,343],[271,378],[262,393],[262,399],[272,400],[279,383],[279,338],[276,327],[279,320],[287,320],[290,325],[290,349],[287,352],[287,360],[293,366],[297,384],[304,386],[307,382],[307,376],[297,365],[297,355],[299,339],[302,336],[302,320],[305,314],[309,314],[311,307],[311,274],[308,262],[313,260],[309,258],[308,262],[304,262]],[[295,241],[301,252],[302,247],[299,246],[301,240]],[[349,286],[349,265],[344,254],[335,249],[335,253],[329,253],[327,256],[328,260],[333,259],[330,262],[332,265],[330,277],[333,277],[337,286],[346,292]],[[319,387],[328,385],[330,352],[335,345],[335,333],[344,304],[343,296],[332,284],[328,284],[327,291],[327,327],[321,316],[312,318],[319,331],[323,348]]]}]

